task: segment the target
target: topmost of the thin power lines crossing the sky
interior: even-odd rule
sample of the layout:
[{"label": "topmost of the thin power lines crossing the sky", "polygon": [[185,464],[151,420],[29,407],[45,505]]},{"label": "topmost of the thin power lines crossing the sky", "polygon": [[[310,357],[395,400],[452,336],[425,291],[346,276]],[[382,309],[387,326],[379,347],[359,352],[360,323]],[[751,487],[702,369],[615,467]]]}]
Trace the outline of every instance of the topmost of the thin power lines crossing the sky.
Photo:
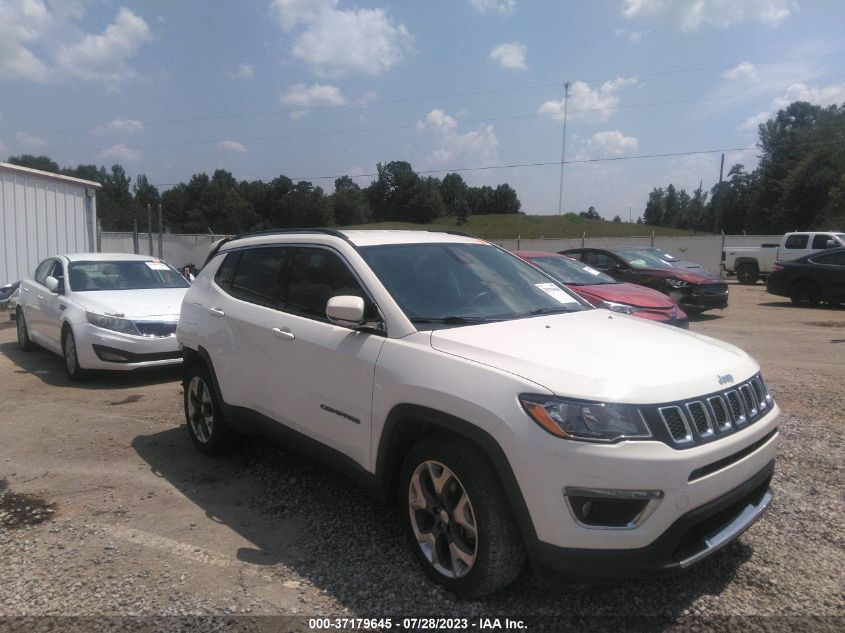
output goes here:
[{"label": "topmost of the thin power lines crossing the sky", "polygon": [[[755,61],[755,62],[748,62],[755,66],[764,66],[764,65],[773,65],[773,64],[785,64],[789,62],[798,62],[798,61],[810,61],[810,60],[817,60],[817,59],[824,59],[827,57],[837,57],[840,55],[845,55],[845,51],[836,51],[831,53],[825,53],[823,55],[813,55],[807,57],[793,57],[793,58],[785,58],[785,59],[776,59],[776,60],[762,60],[762,61]],[[689,72],[703,72],[706,70],[725,70],[734,68],[736,64],[714,64],[709,66],[694,66],[694,67],[687,67],[687,68],[675,68],[671,70],[659,70],[659,71],[652,71],[652,72],[635,72],[635,73],[628,73],[628,74],[616,74],[614,76],[608,77],[593,77],[590,79],[582,79],[579,81],[583,81],[585,83],[596,83],[596,82],[604,82],[604,81],[612,81],[614,79],[637,79],[643,77],[660,77],[666,75],[674,75],[674,74],[682,74],[682,73],[689,73]],[[549,82],[549,83],[541,83],[541,84],[530,84],[526,86],[512,86],[509,88],[493,88],[487,90],[472,90],[467,92],[453,92],[453,93],[445,93],[439,95],[420,95],[420,96],[413,96],[413,97],[398,97],[395,99],[374,99],[374,100],[358,100],[352,103],[343,103],[343,104],[333,104],[333,105],[323,105],[323,106],[311,106],[311,107],[289,107],[289,108],[280,108],[274,110],[265,110],[265,111],[254,111],[254,112],[242,112],[242,113],[232,113],[232,114],[216,114],[216,115],[208,115],[208,116],[190,116],[190,117],[181,117],[181,118],[174,118],[174,119],[159,119],[159,120],[148,120],[148,121],[140,121],[142,125],[150,126],[150,125],[166,125],[166,124],[174,124],[174,123],[195,123],[195,122],[204,122],[204,121],[221,121],[225,119],[243,119],[243,118],[250,118],[250,117],[265,117],[265,116],[275,116],[279,114],[291,114],[297,112],[320,112],[326,110],[341,110],[341,109],[349,109],[349,108],[360,108],[360,107],[369,107],[369,106],[376,106],[376,105],[391,105],[391,104],[399,104],[399,103],[414,103],[420,101],[435,101],[438,99],[454,99],[459,97],[474,97],[474,96],[485,96],[485,95],[495,95],[495,94],[506,94],[506,93],[513,93],[513,92],[526,92],[530,90],[539,90],[541,88],[556,88],[561,85],[561,81]],[[72,132],[91,132],[96,131],[102,128],[102,125],[93,126],[93,127],[83,127],[83,128],[66,128],[66,129],[48,129],[48,130],[41,130],[36,132],[37,134],[67,134]]]}]

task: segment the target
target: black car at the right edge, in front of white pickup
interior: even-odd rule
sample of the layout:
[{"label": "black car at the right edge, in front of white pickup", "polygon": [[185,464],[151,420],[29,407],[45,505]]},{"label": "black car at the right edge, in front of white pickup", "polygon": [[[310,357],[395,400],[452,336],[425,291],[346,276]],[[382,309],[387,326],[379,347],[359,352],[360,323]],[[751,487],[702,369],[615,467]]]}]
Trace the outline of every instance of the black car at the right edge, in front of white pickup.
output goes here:
[{"label": "black car at the right edge, in front of white pickup", "polygon": [[766,278],[766,290],[789,297],[797,306],[845,303],[845,248],[775,262]]}]

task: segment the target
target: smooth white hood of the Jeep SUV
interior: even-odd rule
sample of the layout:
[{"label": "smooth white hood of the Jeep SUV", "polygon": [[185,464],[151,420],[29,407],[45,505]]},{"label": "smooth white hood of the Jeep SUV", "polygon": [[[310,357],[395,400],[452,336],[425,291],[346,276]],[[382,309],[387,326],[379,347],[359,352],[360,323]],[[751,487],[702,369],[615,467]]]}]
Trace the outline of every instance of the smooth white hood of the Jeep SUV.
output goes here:
[{"label": "smooth white hood of the Jeep SUV", "polygon": [[742,350],[608,310],[435,330],[443,353],[521,376],[572,398],[660,403],[725,388],[759,370]]}]

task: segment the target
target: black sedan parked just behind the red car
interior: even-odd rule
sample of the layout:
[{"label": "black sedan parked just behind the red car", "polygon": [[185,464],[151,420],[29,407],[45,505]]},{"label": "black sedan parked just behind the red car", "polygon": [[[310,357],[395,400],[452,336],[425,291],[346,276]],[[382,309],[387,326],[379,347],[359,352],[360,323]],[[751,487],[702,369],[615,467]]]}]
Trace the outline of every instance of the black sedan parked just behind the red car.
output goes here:
[{"label": "black sedan parked just behind the red car", "polygon": [[573,248],[560,254],[597,268],[617,281],[658,290],[687,313],[728,307],[728,286],[718,277],[674,268],[638,248]]}]

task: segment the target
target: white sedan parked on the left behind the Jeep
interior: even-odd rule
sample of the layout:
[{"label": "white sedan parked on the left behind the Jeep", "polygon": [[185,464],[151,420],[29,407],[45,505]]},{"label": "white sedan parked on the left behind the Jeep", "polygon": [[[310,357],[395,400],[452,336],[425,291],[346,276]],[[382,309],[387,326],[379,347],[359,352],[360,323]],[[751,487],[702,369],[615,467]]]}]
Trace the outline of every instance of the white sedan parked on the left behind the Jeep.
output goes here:
[{"label": "white sedan parked on the left behind the Jeep", "polygon": [[189,284],[144,255],[80,253],[45,259],[21,282],[18,344],[64,357],[68,375],[182,361],[176,324]]}]

